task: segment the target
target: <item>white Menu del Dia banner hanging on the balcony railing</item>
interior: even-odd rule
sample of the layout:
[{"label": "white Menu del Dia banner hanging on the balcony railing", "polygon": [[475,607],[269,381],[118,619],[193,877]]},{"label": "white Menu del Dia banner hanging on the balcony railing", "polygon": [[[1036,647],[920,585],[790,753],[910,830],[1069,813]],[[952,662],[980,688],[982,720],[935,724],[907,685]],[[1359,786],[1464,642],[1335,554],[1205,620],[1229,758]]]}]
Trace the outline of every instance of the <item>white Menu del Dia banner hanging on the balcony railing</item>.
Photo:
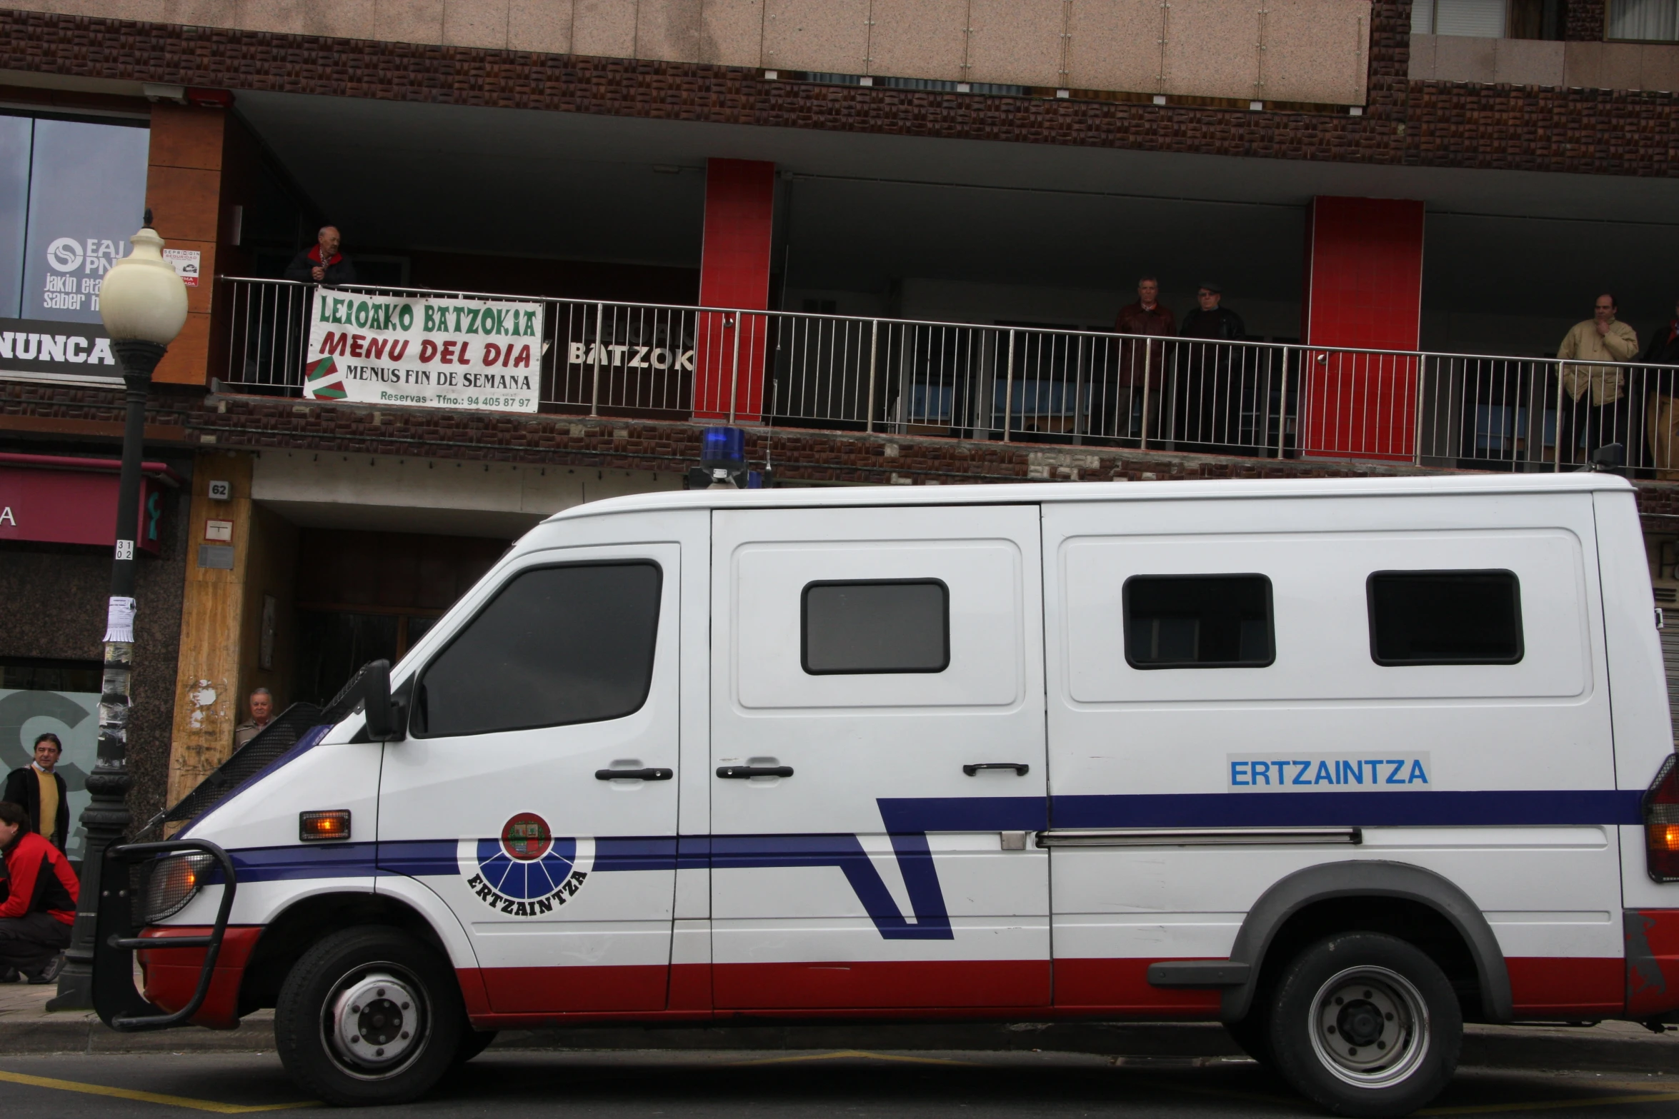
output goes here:
[{"label": "white Menu del Dia banner hanging on the balcony railing", "polygon": [[534,413],[542,304],[317,287],[304,399]]}]

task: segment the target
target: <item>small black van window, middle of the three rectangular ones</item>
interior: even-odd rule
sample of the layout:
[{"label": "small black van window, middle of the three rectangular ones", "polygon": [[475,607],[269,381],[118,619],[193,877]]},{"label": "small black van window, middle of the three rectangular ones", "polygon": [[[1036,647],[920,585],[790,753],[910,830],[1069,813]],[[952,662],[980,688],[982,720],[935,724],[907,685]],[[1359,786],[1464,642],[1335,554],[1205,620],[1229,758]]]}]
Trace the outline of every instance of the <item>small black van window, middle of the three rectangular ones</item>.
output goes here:
[{"label": "small black van window, middle of the three rectangular ones", "polygon": [[1276,659],[1264,575],[1132,575],[1123,599],[1132,668],[1264,668]]}]

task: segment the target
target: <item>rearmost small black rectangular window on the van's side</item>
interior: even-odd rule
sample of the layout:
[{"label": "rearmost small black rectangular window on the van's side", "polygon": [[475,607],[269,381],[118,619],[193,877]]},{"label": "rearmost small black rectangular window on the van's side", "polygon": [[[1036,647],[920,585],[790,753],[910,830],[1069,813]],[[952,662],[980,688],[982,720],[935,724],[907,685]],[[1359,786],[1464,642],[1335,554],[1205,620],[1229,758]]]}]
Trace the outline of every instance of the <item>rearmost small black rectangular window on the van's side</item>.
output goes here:
[{"label": "rearmost small black rectangular window on the van's side", "polygon": [[1521,584],[1513,570],[1378,570],[1365,580],[1377,664],[1514,664]]}]

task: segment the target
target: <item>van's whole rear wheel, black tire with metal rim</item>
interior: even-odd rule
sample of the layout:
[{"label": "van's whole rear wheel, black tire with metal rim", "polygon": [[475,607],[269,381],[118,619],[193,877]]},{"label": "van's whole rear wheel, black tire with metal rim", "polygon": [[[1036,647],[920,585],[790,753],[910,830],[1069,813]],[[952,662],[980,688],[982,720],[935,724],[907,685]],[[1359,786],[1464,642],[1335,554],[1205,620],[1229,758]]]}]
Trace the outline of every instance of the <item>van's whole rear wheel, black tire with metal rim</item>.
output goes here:
[{"label": "van's whole rear wheel, black tire with metal rim", "polygon": [[[1328,936],[1284,968],[1273,1067],[1338,1116],[1407,1116],[1457,1070],[1462,1010],[1439,965],[1380,933]],[[1357,1044],[1353,1044],[1357,1042]]]}]

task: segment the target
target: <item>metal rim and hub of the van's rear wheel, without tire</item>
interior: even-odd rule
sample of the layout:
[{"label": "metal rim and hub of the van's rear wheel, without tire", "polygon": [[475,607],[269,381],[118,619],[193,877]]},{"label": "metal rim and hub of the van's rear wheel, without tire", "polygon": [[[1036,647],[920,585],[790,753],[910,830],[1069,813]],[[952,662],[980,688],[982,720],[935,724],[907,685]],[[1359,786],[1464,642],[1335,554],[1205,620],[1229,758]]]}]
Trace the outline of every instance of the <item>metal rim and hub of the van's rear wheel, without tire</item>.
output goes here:
[{"label": "metal rim and hub of the van's rear wheel, without tire", "polygon": [[1409,1077],[1429,1044],[1420,991],[1397,971],[1365,966],[1331,976],[1313,1000],[1311,1045],[1325,1067],[1363,1087]]}]

